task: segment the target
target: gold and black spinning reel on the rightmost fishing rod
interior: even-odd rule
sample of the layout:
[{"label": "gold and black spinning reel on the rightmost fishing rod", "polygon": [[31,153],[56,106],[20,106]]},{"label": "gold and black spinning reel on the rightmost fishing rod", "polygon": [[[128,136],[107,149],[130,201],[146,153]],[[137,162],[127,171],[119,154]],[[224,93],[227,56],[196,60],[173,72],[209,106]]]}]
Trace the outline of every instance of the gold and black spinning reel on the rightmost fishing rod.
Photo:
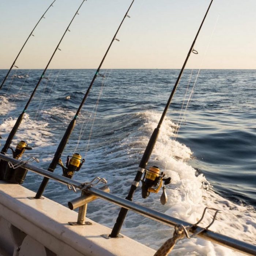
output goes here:
[{"label": "gold and black spinning reel on the rightmost fishing rod", "polygon": [[166,204],[167,195],[165,192],[165,185],[171,183],[171,178],[163,178],[165,173],[161,172],[157,166],[151,166],[146,169],[142,178],[142,198],[147,198],[150,193],[158,193],[161,187],[163,187],[163,193],[161,196],[161,203]]}]

